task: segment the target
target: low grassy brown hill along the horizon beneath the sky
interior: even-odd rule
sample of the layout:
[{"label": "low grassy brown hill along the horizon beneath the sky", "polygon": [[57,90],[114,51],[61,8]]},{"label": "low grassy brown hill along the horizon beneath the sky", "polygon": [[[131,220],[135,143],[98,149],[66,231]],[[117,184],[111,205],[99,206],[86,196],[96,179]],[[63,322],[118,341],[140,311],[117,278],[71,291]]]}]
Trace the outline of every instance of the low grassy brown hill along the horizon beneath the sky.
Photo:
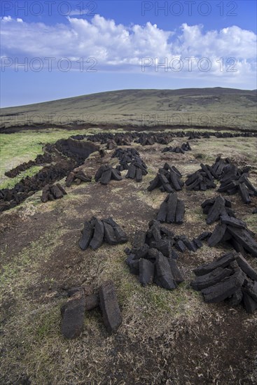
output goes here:
[{"label": "low grassy brown hill along the horizon beneath the sky", "polygon": [[1,132],[95,126],[257,130],[256,90],[118,90],[1,109]]}]

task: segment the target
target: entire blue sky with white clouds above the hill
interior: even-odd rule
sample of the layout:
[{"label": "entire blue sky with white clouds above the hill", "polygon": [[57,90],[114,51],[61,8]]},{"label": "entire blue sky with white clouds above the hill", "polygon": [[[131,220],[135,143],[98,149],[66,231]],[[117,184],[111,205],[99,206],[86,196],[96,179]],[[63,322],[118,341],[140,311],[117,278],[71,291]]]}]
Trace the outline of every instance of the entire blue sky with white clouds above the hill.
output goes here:
[{"label": "entire blue sky with white clouds above the hill", "polygon": [[1,106],[185,87],[256,89],[256,1],[1,1]]}]

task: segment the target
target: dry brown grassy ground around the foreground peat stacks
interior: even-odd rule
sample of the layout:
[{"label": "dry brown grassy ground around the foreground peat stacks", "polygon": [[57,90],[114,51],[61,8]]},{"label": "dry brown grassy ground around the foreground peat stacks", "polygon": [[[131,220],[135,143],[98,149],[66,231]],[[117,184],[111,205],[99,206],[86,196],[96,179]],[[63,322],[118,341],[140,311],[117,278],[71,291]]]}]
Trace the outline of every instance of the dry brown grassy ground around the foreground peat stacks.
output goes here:
[{"label": "dry brown grassy ground around the foreground peat stacks", "polygon": [[[175,139],[172,145],[183,141]],[[166,197],[158,189],[146,190],[165,162],[185,180],[200,162],[212,165],[218,154],[229,156],[239,167],[251,165],[250,180],[257,186],[256,138],[195,139],[190,144],[193,151],[185,154],[161,153],[158,144],[133,144],[148,166],[142,183],[124,178],[102,186],[92,181],[71,186],[62,200],[46,204],[39,192],[1,214],[1,384],[257,384],[257,314],[247,314],[241,305],[205,304],[190,288],[193,269],[227,251],[226,246],[204,243],[196,253],[179,253],[185,282],[173,291],[141,287],[125,265],[125,246],[131,246],[135,231],[148,228]],[[106,151],[104,158],[92,153],[81,169],[94,175],[104,162],[117,165],[112,153]],[[184,223],[167,227],[189,239],[212,231],[216,224],[205,223],[200,204],[216,195],[215,189],[183,188]],[[257,197],[249,205],[238,195],[229,199],[237,218],[256,232],[251,211]],[[80,231],[92,216],[112,216],[127,232],[128,243],[82,251]],[[247,260],[257,269],[256,259],[249,255]],[[100,311],[93,310],[85,315],[81,337],[64,339],[60,307],[67,289],[86,283],[97,288],[105,279],[116,285],[123,314],[118,332],[107,335]]]}]

